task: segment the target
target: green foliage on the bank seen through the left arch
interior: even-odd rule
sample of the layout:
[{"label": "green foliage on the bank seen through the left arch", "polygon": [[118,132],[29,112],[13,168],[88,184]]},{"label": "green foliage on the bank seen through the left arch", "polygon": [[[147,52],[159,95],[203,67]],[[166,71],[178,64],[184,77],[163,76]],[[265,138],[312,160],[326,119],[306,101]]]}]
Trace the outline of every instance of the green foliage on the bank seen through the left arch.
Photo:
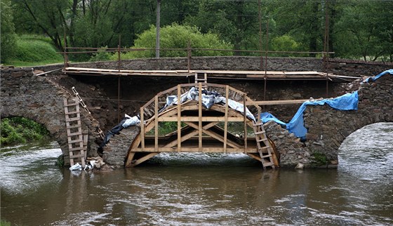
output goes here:
[{"label": "green foliage on the bank seen through the left arch", "polygon": [[23,117],[1,119],[1,145],[25,143],[27,140],[41,140],[49,135],[44,126]]}]

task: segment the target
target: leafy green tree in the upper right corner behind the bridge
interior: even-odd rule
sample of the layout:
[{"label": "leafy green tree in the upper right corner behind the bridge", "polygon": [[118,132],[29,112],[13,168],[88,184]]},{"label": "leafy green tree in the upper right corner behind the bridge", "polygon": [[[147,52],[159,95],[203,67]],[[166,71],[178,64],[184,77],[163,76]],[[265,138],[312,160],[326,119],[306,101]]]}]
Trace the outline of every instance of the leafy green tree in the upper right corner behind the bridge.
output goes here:
[{"label": "leafy green tree in the upper right corner behind the bridge", "polygon": [[[338,36],[344,57],[364,60],[389,58],[393,61],[392,1],[352,1],[338,21]],[[345,46],[347,44],[347,46]]]}]

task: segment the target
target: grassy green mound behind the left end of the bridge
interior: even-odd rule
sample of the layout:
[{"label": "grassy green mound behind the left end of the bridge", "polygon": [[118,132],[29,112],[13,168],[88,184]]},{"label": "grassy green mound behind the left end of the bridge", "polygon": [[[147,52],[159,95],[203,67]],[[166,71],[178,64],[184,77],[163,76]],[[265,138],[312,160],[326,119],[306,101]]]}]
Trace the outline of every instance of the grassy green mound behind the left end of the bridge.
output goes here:
[{"label": "grassy green mound behind the left end of the bridge", "polygon": [[51,39],[45,36],[23,34],[16,40],[15,55],[4,65],[26,67],[59,62],[64,62],[64,60],[51,44]]}]

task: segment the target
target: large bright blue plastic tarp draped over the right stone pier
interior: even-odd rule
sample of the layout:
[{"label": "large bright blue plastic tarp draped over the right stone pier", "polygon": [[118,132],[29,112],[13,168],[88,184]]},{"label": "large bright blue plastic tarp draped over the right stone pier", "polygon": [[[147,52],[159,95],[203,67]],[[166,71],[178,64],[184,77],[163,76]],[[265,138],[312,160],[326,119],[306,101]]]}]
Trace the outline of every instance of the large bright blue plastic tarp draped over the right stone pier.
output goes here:
[{"label": "large bright blue plastic tarp draped over the right stone pier", "polygon": [[305,139],[305,136],[307,134],[307,128],[304,126],[304,121],[303,121],[303,112],[305,111],[307,105],[329,105],[333,107],[334,109],[339,109],[339,110],[357,110],[357,104],[359,101],[359,96],[357,91],[354,93],[347,93],[345,95],[341,95],[337,98],[333,99],[324,99],[324,100],[315,100],[315,101],[306,101],[304,102],[298,109],[298,112],[296,112],[295,116],[289,121],[287,124],[284,123],[283,121],[280,121],[276,117],[274,117],[272,114],[263,112],[260,114],[260,117],[262,119],[262,122],[265,123],[267,121],[275,121],[277,124],[281,124],[286,126],[286,129],[294,133],[298,138]]}]

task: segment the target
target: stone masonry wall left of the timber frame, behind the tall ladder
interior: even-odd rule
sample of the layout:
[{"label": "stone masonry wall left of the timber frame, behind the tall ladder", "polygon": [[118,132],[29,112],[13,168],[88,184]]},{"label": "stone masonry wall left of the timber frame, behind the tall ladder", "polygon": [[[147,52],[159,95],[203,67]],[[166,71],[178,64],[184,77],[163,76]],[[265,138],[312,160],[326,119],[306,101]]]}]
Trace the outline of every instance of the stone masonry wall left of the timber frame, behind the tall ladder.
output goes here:
[{"label": "stone masonry wall left of the timber frame, behind the tall ladder", "polygon": [[[69,164],[63,98],[74,98],[65,89],[36,76],[31,68],[1,70],[1,118],[25,117],[43,124],[58,141]],[[98,121],[81,109],[82,129],[88,131],[88,157],[97,155]]]}]

